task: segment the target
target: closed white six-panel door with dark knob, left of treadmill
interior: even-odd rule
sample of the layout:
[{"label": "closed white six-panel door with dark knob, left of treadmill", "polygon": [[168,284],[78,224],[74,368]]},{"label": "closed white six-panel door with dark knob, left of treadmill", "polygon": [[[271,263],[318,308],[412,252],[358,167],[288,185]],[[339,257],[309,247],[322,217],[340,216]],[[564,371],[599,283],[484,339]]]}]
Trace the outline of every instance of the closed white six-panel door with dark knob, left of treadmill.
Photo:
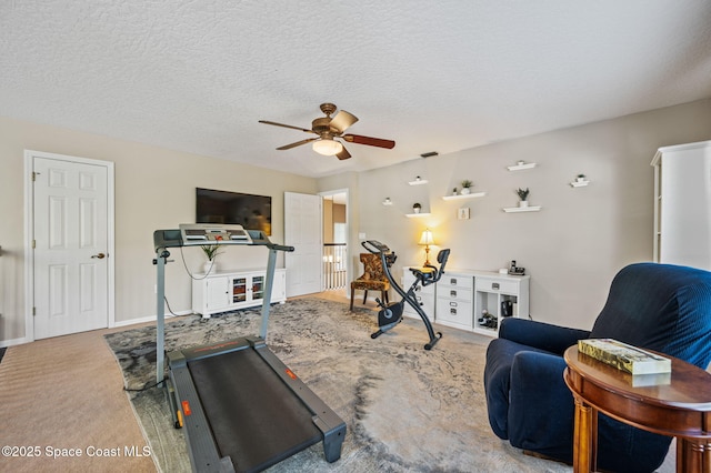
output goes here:
[{"label": "closed white six-panel door with dark knob, left of treadmill", "polygon": [[108,168],[36,153],[32,171],[34,339],[107,328]]}]

